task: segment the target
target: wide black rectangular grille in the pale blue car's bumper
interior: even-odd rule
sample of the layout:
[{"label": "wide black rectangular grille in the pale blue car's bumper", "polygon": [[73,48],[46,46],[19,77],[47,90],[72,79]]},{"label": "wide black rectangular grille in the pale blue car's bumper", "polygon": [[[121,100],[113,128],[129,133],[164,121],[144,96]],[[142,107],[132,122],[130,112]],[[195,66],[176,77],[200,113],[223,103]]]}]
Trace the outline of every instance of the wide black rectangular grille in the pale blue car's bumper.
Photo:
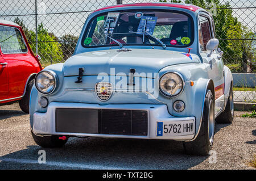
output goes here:
[{"label": "wide black rectangular grille in the pale blue car's bumper", "polygon": [[56,109],[56,132],[147,136],[147,111]]}]

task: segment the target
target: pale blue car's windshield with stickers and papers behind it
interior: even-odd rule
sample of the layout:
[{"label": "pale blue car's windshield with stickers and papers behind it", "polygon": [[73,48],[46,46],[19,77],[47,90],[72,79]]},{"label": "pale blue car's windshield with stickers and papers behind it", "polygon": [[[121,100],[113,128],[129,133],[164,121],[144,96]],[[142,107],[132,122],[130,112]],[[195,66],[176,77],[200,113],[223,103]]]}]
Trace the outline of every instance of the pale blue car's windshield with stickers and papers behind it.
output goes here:
[{"label": "pale blue car's windshield with stickers and papers behind it", "polygon": [[106,12],[95,16],[90,22],[82,38],[82,45],[188,47],[193,41],[191,21],[185,14],[170,11]]}]

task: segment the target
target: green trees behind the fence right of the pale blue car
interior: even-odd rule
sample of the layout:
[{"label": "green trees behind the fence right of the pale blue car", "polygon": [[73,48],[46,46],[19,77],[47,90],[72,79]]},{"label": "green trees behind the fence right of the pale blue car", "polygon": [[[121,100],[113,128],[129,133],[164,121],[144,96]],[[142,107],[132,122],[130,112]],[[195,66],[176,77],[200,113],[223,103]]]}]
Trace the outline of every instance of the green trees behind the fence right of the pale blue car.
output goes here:
[{"label": "green trees behind the fence right of the pale blue car", "polygon": [[[181,1],[171,0],[171,2],[180,3]],[[212,2],[216,4],[217,14],[213,15],[213,18],[216,37],[220,40],[220,48],[224,51],[223,59],[225,64],[241,64],[245,71],[247,60],[255,61],[253,41],[241,40],[253,39],[252,37],[255,35],[232,15],[233,10],[229,2],[221,3],[219,0],[184,0],[182,2],[193,4],[203,9],[210,9],[209,5]]]}]

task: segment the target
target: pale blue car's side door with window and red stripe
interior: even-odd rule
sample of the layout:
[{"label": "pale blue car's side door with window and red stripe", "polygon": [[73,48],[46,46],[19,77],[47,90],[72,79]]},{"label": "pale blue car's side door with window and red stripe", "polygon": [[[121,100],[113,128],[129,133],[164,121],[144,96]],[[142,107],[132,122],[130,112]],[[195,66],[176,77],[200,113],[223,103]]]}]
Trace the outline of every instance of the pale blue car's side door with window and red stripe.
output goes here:
[{"label": "pale blue car's side door with window and red stripe", "polygon": [[220,112],[223,104],[223,94],[224,91],[224,77],[223,77],[223,66],[221,65],[221,60],[219,60],[220,54],[216,50],[212,54],[206,49],[206,45],[210,39],[214,38],[213,26],[211,24],[210,16],[205,14],[199,15],[199,45],[200,54],[203,61],[208,69],[208,76],[213,79],[215,87],[215,113],[217,115]]}]

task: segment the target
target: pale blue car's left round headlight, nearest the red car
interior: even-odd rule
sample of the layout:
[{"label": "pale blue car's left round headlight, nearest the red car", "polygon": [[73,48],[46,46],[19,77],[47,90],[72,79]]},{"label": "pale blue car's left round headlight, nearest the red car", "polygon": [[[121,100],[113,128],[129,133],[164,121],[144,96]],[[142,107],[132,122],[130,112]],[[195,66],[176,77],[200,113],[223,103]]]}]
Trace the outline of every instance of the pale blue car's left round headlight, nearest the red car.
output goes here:
[{"label": "pale blue car's left round headlight, nearest the red car", "polygon": [[53,71],[40,71],[35,78],[35,86],[39,92],[50,94],[56,88],[56,74]]}]

